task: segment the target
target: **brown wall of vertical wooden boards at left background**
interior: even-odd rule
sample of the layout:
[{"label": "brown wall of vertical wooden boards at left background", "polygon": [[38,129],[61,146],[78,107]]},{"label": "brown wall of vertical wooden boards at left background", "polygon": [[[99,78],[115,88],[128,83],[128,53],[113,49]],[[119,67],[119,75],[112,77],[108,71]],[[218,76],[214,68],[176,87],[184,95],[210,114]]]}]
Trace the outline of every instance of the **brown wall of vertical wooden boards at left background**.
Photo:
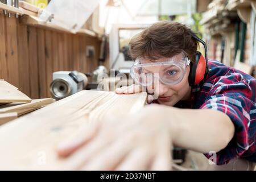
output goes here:
[{"label": "brown wall of vertical wooden boards at left background", "polygon": [[[86,46],[94,47],[93,61]],[[100,39],[32,27],[0,13],[0,78],[27,96],[51,97],[52,72],[90,72],[97,67]]]}]

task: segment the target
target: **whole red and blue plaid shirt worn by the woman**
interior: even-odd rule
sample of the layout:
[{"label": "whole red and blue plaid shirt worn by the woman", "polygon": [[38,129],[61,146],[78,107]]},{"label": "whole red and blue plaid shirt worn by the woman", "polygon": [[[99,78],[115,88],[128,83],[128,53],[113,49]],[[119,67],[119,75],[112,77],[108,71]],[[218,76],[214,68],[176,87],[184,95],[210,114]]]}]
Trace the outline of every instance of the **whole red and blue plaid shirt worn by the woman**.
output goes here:
[{"label": "whole red and blue plaid shirt worn by the woman", "polygon": [[233,139],[217,152],[216,162],[226,164],[233,158],[256,162],[256,80],[218,61],[208,62],[209,75],[192,89],[192,108],[222,111],[235,126]]}]

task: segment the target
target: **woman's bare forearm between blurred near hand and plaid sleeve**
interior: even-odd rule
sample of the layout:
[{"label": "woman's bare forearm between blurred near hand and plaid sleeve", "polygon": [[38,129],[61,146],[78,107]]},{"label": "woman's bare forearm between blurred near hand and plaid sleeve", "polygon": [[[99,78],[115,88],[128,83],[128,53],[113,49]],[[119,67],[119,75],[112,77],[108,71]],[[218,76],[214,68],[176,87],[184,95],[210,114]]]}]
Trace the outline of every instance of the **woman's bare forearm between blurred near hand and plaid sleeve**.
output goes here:
[{"label": "woman's bare forearm between blurred near hand and plaid sleeve", "polygon": [[[225,148],[234,135],[228,115],[212,109],[166,108],[175,146],[207,153]],[[170,114],[173,113],[173,114]]]}]

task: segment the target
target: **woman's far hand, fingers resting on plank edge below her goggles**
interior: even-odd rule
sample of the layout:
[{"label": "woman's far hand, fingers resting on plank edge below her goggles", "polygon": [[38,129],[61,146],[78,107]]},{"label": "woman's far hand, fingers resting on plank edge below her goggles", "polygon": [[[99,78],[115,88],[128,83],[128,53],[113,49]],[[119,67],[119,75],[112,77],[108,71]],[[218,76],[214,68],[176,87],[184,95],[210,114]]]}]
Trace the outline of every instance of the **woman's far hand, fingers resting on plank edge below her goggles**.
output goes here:
[{"label": "woman's far hand, fingers resting on plank edge below her goggles", "polygon": [[[141,85],[130,85],[122,86],[121,88],[115,89],[115,93],[118,94],[133,94],[138,92],[146,92],[146,89],[143,90]],[[147,94],[147,104],[150,104],[154,100],[154,97],[151,94]]]}]

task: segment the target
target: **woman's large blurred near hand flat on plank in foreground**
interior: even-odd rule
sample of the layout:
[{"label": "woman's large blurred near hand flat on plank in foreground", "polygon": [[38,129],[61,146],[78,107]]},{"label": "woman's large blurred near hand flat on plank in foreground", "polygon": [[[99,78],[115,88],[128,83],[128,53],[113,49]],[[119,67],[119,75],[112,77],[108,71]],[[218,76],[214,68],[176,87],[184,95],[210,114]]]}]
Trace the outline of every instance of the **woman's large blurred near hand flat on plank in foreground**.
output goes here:
[{"label": "woman's large blurred near hand flat on plank in foreground", "polygon": [[171,169],[170,123],[163,109],[148,105],[122,121],[104,121],[101,126],[82,130],[57,147],[59,156],[69,156],[63,169]]}]

